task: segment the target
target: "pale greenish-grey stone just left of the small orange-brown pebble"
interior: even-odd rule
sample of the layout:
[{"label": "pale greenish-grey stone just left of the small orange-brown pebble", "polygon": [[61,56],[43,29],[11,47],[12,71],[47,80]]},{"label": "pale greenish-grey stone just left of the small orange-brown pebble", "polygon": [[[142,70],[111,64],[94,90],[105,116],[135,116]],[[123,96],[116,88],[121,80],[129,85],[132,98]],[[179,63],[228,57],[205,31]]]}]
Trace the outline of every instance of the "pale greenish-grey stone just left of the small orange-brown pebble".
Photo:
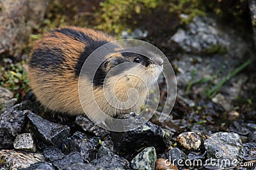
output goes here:
[{"label": "pale greenish-grey stone just left of the small orange-brown pebble", "polygon": [[145,148],[131,161],[133,169],[154,170],[156,166],[156,150],[154,147]]}]

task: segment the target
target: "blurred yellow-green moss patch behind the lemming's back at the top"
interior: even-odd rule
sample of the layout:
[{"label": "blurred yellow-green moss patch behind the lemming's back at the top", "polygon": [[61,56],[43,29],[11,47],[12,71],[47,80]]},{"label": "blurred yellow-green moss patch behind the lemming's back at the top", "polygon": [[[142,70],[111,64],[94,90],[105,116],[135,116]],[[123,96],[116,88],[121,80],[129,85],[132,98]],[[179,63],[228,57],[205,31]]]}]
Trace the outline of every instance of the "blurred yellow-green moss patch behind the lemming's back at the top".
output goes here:
[{"label": "blurred yellow-green moss patch behind the lemming's back at the top", "polygon": [[[154,10],[168,9],[169,22],[179,18],[180,24],[188,24],[196,15],[205,15],[200,0],[108,0],[100,3],[97,12],[97,29],[120,35],[127,28],[138,27],[144,18],[157,18]],[[180,14],[188,17],[180,18]],[[159,13],[158,15],[162,15]]]}]

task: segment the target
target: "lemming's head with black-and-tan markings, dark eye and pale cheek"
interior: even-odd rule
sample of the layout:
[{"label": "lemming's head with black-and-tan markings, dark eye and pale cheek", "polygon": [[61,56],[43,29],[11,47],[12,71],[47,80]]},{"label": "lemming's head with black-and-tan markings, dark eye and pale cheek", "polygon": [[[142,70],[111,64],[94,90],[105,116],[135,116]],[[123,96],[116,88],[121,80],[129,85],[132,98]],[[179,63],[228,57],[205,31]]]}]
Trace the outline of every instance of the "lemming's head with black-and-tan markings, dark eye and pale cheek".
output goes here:
[{"label": "lemming's head with black-and-tan markings, dark eye and pale cheek", "polygon": [[163,70],[163,59],[153,52],[143,54],[122,51],[109,54],[97,69],[93,85],[100,87],[110,79],[122,80],[136,88],[152,85]]}]

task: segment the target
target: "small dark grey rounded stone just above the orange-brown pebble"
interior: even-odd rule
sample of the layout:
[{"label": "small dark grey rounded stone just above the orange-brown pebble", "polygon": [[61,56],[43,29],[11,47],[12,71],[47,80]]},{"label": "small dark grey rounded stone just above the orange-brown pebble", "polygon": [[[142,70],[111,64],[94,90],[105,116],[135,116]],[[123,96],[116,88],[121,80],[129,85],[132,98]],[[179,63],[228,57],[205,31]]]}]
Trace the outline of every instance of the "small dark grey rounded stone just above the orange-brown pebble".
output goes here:
[{"label": "small dark grey rounded stone just above the orange-brown pebble", "polygon": [[[186,162],[186,160],[188,160],[188,155],[186,155],[182,150],[180,150],[179,148],[173,148],[172,150],[169,150],[167,152],[167,157],[168,160],[174,164],[175,166],[178,166],[178,160],[182,161],[182,164],[184,164],[184,162]],[[188,167],[186,164],[184,164],[184,166]],[[184,166],[182,166],[182,168],[184,168]]]}]

